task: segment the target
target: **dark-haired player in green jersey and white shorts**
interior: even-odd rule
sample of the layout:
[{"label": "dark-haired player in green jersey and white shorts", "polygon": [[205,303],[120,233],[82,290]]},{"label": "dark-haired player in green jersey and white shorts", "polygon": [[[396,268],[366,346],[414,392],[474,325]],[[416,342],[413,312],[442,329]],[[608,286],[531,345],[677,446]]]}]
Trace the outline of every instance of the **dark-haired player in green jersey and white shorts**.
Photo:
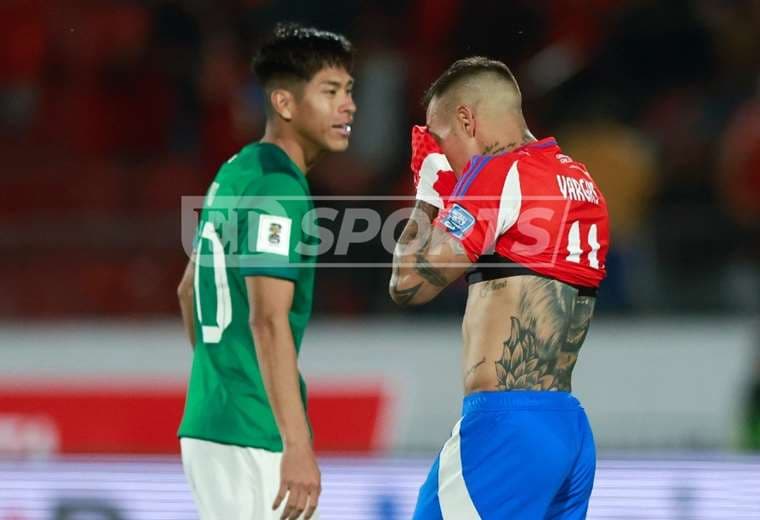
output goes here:
[{"label": "dark-haired player in green jersey and white shorts", "polygon": [[204,201],[178,288],[194,346],[179,436],[202,520],[315,515],[320,474],[297,367],[319,240],[306,173],[348,146],[352,60],[342,36],[278,26],[254,59],[264,137],[222,165]]}]

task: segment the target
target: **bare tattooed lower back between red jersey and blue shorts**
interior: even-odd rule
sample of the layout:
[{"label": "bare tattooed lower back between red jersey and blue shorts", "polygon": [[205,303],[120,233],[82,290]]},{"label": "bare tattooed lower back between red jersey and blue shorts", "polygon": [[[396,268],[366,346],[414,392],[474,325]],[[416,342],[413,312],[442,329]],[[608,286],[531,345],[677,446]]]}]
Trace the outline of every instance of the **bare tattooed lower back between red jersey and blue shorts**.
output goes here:
[{"label": "bare tattooed lower back between red jersey and blue shorts", "polygon": [[471,284],[462,323],[465,394],[569,392],[596,298],[541,276]]}]

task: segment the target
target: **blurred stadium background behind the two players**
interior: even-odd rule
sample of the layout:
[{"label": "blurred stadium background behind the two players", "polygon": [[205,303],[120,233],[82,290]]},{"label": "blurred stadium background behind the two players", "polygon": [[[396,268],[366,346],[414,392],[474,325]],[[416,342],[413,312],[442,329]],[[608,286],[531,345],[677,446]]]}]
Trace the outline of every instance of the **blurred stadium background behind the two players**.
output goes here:
[{"label": "blurred stadium background behind the two players", "polygon": [[[351,147],[315,195],[412,195],[425,88],[469,55],[512,68],[533,133],[611,212],[574,381],[589,518],[760,518],[760,1],[2,0],[0,520],[195,518],[181,197],[260,137],[249,65],[283,20],[358,53]],[[458,417],[466,287],[402,313],[389,275],[318,271],[302,365],[327,520],[407,518]]]}]

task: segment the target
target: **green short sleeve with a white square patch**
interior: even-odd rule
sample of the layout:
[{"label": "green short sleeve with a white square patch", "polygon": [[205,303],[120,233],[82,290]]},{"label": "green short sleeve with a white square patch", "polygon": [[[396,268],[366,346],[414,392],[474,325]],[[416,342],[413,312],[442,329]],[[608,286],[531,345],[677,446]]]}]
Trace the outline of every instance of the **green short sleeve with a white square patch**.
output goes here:
[{"label": "green short sleeve with a white square patch", "polygon": [[238,204],[237,265],[243,276],[297,280],[304,215],[311,198],[298,179],[270,173],[252,183]]}]

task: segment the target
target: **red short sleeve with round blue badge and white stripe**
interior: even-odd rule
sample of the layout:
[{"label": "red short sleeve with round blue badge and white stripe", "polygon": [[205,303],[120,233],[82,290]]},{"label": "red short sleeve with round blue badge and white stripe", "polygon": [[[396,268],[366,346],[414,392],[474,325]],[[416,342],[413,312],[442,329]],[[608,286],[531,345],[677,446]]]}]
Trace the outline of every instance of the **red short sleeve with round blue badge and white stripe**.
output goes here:
[{"label": "red short sleeve with round blue badge and white stripe", "polygon": [[475,156],[434,225],[459,240],[471,262],[494,250],[517,220],[521,194],[517,161]]}]

